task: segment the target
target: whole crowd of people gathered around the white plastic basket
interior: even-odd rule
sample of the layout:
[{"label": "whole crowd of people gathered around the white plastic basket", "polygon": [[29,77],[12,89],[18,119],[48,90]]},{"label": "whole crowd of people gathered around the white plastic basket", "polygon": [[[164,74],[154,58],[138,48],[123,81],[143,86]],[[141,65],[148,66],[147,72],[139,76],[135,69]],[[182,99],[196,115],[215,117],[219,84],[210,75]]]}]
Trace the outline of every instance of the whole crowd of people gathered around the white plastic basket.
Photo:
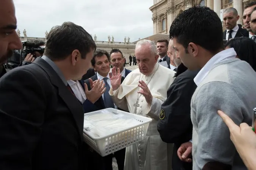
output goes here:
[{"label": "whole crowd of people gathered around the white plastic basket", "polygon": [[[113,157],[119,170],[254,169],[255,144],[237,142],[230,127],[251,125],[256,107],[256,2],[245,6],[243,26],[239,17],[226,9],[223,32],[210,8],[185,10],[170,41],[137,42],[133,71],[119,49],[97,49],[85,29],[64,22],[49,32],[41,57],[6,73],[22,44],[14,3],[3,0],[0,169],[112,170]],[[145,139],[99,155],[83,142],[83,117],[104,108],[151,117]]]}]

